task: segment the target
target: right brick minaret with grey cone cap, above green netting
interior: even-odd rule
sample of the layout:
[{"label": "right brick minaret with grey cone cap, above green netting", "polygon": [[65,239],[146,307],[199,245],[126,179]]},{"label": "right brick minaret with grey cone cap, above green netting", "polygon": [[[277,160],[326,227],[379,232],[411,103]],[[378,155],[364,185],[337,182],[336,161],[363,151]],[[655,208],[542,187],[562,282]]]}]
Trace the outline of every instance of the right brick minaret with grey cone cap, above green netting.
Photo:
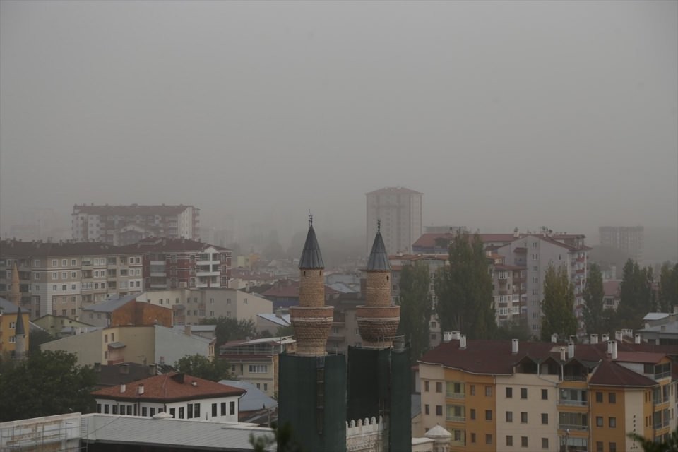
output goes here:
[{"label": "right brick minaret with grey cone cap, above green netting", "polygon": [[400,323],[400,307],[391,306],[391,265],[381,238],[381,223],[377,222],[376,237],[367,261],[366,305],[356,309],[362,346],[389,348]]}]

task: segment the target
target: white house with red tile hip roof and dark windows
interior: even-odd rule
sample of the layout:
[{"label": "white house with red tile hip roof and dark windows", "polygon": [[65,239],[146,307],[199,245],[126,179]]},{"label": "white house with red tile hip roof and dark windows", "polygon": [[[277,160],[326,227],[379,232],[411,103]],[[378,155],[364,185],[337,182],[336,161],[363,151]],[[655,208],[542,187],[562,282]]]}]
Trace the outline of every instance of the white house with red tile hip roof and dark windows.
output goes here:
[{"label": "white house with red tile hip roof and dark windows", "polygon": [[94,391],[97,413],[237,422],[239,398],[246,391],[179,372]]}]

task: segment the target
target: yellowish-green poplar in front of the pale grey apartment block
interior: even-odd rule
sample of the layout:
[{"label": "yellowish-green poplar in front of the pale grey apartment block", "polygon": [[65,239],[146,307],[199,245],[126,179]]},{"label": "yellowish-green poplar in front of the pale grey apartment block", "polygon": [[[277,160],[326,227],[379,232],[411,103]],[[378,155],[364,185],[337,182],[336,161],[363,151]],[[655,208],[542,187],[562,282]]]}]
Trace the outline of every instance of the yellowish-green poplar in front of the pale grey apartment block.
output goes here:
[{"label": "yellowish-green poplar in front of the pale grey apartment block", "polygon": [[551,340],[557,333],[566,337],[577,333],[574,316],[574,287],[567,275],[567,268],[549,266],[544,278],[544,301],[542,301],[542,340]]}]

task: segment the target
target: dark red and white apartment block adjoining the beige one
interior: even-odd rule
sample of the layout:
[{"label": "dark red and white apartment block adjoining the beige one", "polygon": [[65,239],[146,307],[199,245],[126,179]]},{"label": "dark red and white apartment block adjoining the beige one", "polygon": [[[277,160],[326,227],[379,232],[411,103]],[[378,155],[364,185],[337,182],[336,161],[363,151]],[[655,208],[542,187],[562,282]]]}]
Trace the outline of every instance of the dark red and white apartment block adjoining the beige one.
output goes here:
[{"label": "dark red and white apartment block adjoining the beige one", "polygon": [[119,249],[143,255],[147,289],[228,287],[230,249],[195,240],[166,238],[143,239]]}]

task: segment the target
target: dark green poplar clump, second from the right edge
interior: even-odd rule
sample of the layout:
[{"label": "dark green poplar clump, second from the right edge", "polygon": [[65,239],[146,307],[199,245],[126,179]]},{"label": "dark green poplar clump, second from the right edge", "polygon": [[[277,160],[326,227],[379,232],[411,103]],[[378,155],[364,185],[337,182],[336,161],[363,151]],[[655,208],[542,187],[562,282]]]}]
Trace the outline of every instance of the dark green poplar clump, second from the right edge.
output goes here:
[{"label": "dark green poplar clump, second from the right edge", "polygon": [[619,307],[613,319],[614,329],[642,328],[643,317],[648,312],[656,310],[652,291],[653,280],[652,267],[641,268],[631,259],[626,261]]}]

